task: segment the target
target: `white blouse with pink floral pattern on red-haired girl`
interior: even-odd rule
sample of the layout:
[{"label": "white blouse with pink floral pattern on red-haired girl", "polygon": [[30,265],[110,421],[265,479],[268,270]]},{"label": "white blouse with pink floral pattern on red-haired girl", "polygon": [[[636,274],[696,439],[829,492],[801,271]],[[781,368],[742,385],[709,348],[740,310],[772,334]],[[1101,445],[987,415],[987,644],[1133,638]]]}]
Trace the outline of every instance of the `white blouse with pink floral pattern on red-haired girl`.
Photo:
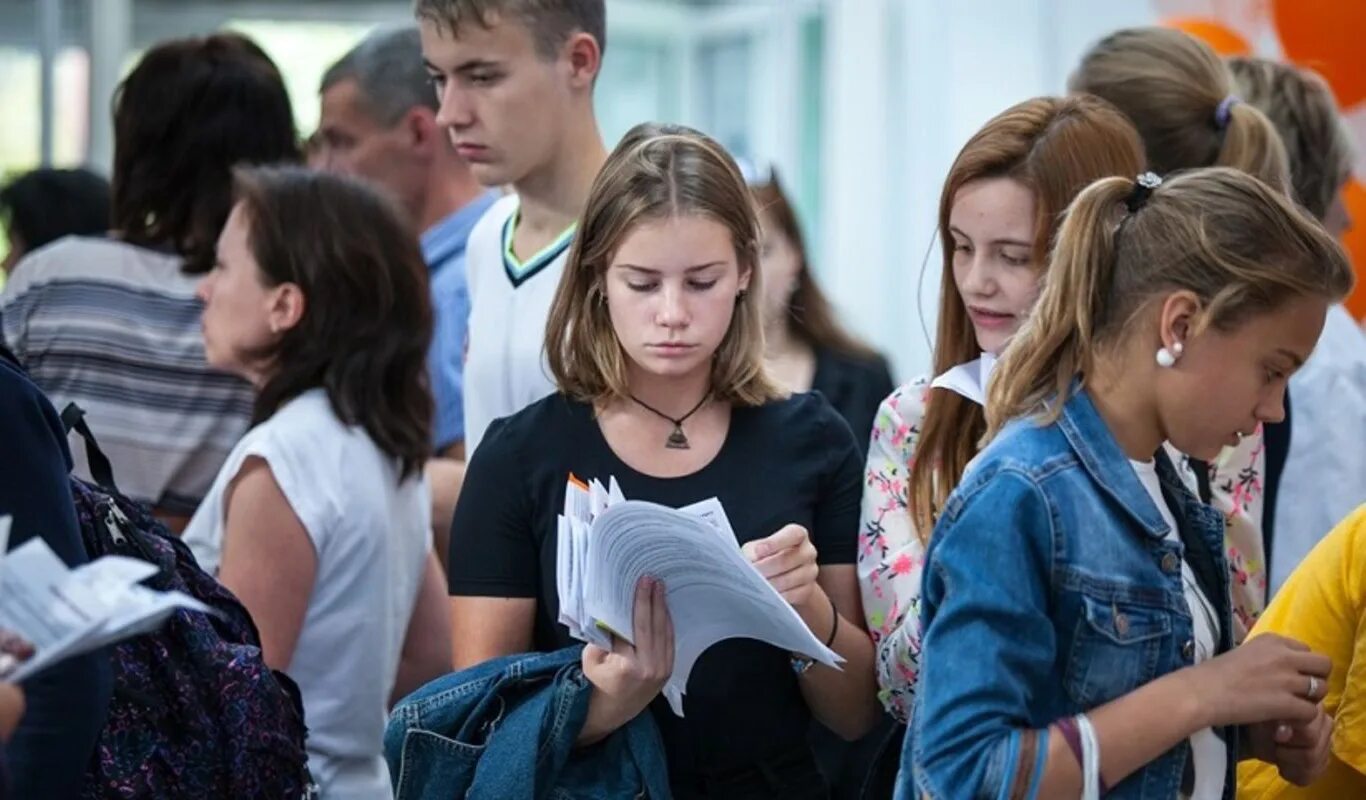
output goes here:
[{"label": "white blouse with pink floral pattern on red-haired girl", "polygon": [[[907,506],[910,471],[925,420],[930,380],[904,384],[878,408],[863,474],[858,576],[863,614],[877,647],[878,699],[902,721],[910,719],[921,663],[921,573],[925,546]],[[1168,445],[1169,446],[1169,445]],[[1169,451],[1191,490],[1190,460]],[[1244,437],[1210,464],[1210,505],[1227,520],[1225,549],[1232,579],[1233,640],[1266,606],[1262,547],[1262,431]]]}]

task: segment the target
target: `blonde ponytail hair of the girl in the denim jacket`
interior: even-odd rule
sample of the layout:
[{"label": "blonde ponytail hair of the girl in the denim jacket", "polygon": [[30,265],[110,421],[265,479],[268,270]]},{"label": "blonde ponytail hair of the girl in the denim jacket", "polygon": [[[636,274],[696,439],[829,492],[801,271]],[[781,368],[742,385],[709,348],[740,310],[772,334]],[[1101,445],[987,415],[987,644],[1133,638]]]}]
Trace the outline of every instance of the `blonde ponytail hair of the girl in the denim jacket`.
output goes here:
[{"label": "blonde ponytail hair of the girl in the denim jacket", "polygon": [[1130,212],[1134,190],[1134,179],[1106,177],[1072,201],[1034,313],[992,375],[988,437],[1016,416],[1056,420],[1072,381],[1085,386],[1097,356],[1164,294],[1199,298],[1198,334],[1233,330],[1292,298],[1333,302],[1351,291],[1341,246],[1242,171],[1177,175]]}]

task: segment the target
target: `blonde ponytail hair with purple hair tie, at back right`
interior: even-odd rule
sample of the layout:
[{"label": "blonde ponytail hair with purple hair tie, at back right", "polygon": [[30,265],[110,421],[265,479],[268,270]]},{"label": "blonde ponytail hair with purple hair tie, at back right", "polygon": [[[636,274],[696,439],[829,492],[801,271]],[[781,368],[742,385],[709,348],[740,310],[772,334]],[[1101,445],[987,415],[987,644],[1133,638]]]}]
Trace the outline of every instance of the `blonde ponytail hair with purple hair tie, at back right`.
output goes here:
[{"label": "blonde ponytail hair with purple hair tie, at back right", "polygon": [[1169,27],[1116,31],[1082,57],[1068,89],[1104,97],[1128,115],[1154,172],[1232,167],[1290,191],[1274,126],[1253,105],[1228,101],[1228,67],[1190,34]]}]

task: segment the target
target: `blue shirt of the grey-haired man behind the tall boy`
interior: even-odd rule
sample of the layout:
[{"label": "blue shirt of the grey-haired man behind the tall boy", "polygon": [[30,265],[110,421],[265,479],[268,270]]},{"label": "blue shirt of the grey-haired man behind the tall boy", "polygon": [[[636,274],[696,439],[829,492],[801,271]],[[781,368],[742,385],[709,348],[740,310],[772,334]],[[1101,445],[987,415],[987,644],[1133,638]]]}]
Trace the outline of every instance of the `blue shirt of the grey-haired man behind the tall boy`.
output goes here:
[{"label": "blue shirt of the grey-haired man behind the tall boy", "polygon": [[464,244],[474,224],[497,197],[488,191],[422,233],[422,258],[432,270],[432,310],[436,314],[428,370],[436,400],[433,437],[437,451],[464,440],[464,337],[470,322]]}]

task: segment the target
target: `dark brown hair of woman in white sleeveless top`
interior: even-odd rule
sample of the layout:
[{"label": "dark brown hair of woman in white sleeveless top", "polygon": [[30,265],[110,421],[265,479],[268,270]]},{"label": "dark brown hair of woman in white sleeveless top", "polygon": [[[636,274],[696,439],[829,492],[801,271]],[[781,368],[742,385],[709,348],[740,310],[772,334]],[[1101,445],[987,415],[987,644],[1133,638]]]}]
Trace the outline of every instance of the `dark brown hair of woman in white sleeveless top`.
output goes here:
[{"label": "dark brown hair of woman in white sleeveless top", "polygon": [[400,479],[417,474],[432,451],[432,300],[403,212],[358,180],[296,167],[238,169],[235,197],[261,280],[305,299],[299,324],[254,354],[272,369],[253,425],[321,386],[342,422],[400,461]]}]

